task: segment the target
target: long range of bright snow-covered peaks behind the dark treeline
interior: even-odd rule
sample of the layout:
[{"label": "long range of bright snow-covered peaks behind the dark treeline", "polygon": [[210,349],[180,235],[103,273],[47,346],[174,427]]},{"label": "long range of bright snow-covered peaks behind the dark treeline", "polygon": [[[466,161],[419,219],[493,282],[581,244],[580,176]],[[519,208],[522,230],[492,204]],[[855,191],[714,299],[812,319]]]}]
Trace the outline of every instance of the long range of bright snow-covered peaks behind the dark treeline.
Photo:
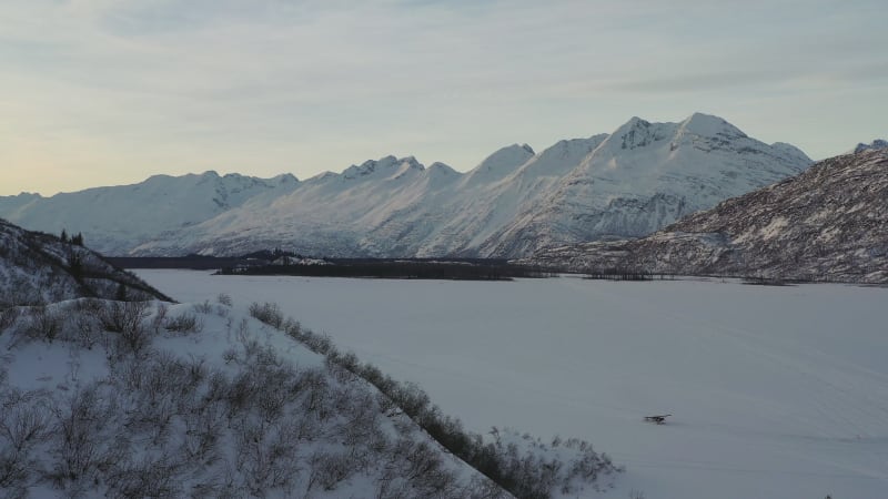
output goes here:
[{"label": "long range of bright snow-covered peaks behind the dark treeline", "polygon": [[[0,216],[82,231],[109,254],[281,247],[317,256],[514,257],[552,244],[646,235],[809,164],[791,145],[767,145],[697,113],[679,123],[633,118],[609,135],[561,141],[539,153],[514,144],[466,173],[386,156],[304,182],[216,175],[214,189],[200,191],[195,180],[208,174],[163,177],[165,195],[145,193],[152,177],[50,198],[0,198]],[[212,201],[220,200],[219,183],[234,180],[253,189]],[[133,197],[139,192],[145,195]],[[139,207],[118,211],[115,203]],[[162,216],[154,214],[158,204]],[[118,215],[109,221],[104,213]]]}]

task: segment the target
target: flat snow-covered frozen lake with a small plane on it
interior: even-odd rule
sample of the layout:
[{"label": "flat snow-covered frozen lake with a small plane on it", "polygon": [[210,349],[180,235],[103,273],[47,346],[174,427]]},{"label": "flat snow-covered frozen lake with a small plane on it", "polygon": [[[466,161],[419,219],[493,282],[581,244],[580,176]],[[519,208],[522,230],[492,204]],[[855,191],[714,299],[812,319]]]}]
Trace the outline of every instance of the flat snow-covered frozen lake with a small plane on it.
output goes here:
[{"label": "flat snow-covered frozen lake with a small plane on it", "polygon": [[138,274],[182,302],[275,302],[474,431],[587,439],[626,466],[605,497],[888,490],[886,288]]}]

